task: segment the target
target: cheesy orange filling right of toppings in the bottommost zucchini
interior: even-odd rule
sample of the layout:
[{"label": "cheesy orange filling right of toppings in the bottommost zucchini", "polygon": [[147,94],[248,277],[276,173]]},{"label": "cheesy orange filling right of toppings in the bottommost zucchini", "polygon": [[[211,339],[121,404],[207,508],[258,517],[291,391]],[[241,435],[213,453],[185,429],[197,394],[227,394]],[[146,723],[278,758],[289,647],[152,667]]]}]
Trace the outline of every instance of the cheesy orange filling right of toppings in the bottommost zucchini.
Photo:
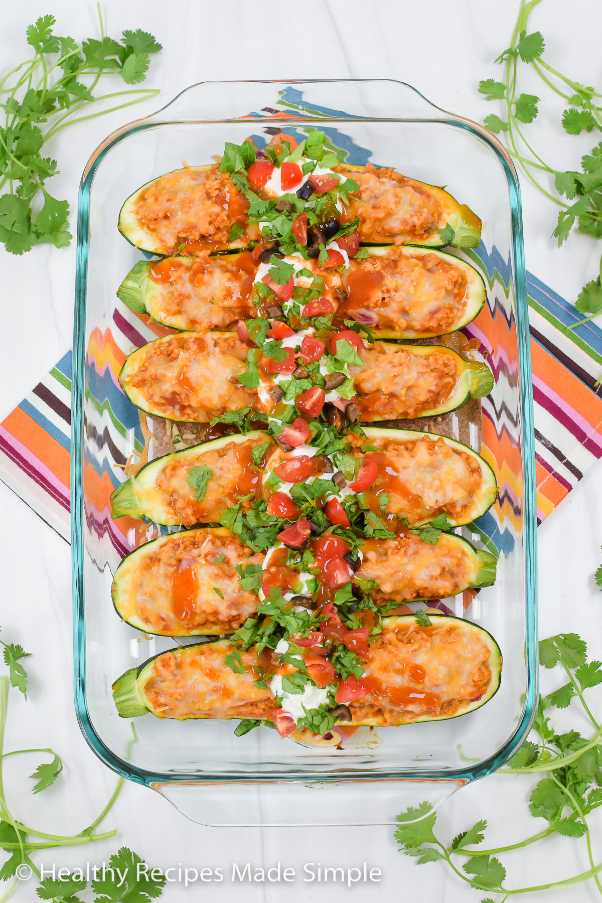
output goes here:
[{"label": "cheesy orange filling right of toppings in the bottommost zucchini", "polygon": [[458,625],[428,628],[385,622],[362,666],[373,686],[347,703],[353,720],[387,726],[423,715],[453,715],[486,693],[489,649],[477,631]]}]

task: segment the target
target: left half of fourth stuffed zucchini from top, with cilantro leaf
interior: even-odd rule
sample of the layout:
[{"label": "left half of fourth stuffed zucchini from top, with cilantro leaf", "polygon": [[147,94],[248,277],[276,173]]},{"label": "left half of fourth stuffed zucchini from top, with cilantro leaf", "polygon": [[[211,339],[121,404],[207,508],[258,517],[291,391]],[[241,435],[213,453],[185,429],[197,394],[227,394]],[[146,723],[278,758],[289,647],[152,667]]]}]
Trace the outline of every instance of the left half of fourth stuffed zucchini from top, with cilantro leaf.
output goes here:
[{"label": "left half of fourth stuffed zucchini from top, with cilantro leaf", "polygon": [[[251,456],[267,433],[223,436],[171,452],[146,464],[111,495],[111,517],[148,517],[154,524],[191,526],[217,523],[241,496],[258,495],[259,470]],[[192,468],[208,468],[204,494],[195,492]],[[198,472],[198,471],[197,471]],[[203,494],[202,500],[198,500]]]}]

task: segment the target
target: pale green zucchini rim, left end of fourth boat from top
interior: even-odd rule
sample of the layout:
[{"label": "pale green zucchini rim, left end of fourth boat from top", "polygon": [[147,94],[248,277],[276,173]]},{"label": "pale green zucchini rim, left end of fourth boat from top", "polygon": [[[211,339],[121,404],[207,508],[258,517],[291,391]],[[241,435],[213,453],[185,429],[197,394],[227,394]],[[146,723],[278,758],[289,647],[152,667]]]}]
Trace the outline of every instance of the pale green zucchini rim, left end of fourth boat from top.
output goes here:
[{"label": "pale green zucchini rim, left end of fourth boat from top", "polygon": [[[163,455],[162,458],[155,458],[154,461],[150,461],[141,470],[138,470],[135,477],[126,479],[117,489],[114,489],[111,494],[111,517],[114,519],[125,516],[148,517],[149,520],[153,521],[153,524],[179,526],[180,520],[170,507],[162,504],[160,498],[158,498],[159,493],[155,488],[159,474],[167,464],[171,461],[187,461],[200,452],[210,452],[213,449],[223,448],[229,442],[235,442],[237,445],[240,445],[243,442],[255,442],[255,440],[267,442],[270,439],[271,437],[267,433],[253,430],[250,433],[222,436],[220,439],[212,439],[210,442],[200,442],[198,445],[191,445],[190,448],[181,452],[171,452]],[[207,523],[213,523],[218,520],[219,517],[212,517],[208,519]]]}]

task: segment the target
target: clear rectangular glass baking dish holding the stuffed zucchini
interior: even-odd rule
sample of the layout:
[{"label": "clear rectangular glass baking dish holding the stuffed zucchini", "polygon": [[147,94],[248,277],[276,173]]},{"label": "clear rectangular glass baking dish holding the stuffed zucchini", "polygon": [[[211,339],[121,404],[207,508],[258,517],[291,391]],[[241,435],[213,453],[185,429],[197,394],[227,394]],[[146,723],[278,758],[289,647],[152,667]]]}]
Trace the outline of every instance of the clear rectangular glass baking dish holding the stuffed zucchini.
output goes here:
[{"label": "clear rectangular glass baking dish holding the stuffed zucchini", "polygon": [[[495,586],[481,591],[466,612],[461,599],[446,603],[497,639],[504,656],[501,687],[476,712],[431,724],[363,728],[342,749],[306,748],[264,729],[236,738],[231,721],[147,715],[135,721],[137,742],[128,753],[132,728],[117,717],[111,684],[178,644],[121,623],[110,598],[117,563],[154,529],[134,521],[117,529],[110,518],[108,498],[123,479],[116,465],[140,454],[144,444],[144,422],[116,377],[133,345],[160,334],[116,299],[140,258],[118,233],[117,215],[136,188],[182,160],[208,163],[225,141],[239,144],[254,135],[262,146],[282,130],[300,138],[308,126],[323,129],[348,163],[392,165],[447,185],[483,219],[481,245],[468,258],[486,279],[488,299],[466,331],[480,340],[495,375],[483,400],[482,453],[495,468],[500,495],[484,517],[461,529],[476,545],[495,545],[500,561]],[[523,239],[513,164],[481,126],[450,116],[395,81],[204,82],[109,135],[90,158],[79,191],[72,450],[75,705],[89,745],[118,774],[160,791],[202,824],[389,824],[407,805],[424,799],[439,805],[468,781],[491,774],[522,743],[537,700]]]}]

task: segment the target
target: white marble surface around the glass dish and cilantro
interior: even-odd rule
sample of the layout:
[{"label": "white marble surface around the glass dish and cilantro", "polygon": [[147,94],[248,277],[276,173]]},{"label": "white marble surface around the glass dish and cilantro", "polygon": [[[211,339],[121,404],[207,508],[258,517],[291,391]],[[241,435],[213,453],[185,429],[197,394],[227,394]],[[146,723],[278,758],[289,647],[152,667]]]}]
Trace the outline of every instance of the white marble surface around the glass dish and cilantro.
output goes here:
[{"label": "white marble surface around the glass dish and cilantro", "polygon": [[[59,33],[78,39],[96,36],[93,3],[33,0],[3,5],[0,60],[5,71],[24,59],[24,29],[39,14],[51,12]],[[518,4],[431,0],[428,5],[407,0],[306,0],[285,4],[264,0],[261,5],[222,0],[108,0],[104,4],[106,31],[143,27],[162,42],[164,51],[153,60],[148,84],[162,88],[166,102],[181,88],[203,79],[248,78],[391,78],[408,81],[440,107],[480,119],[493,105],[477,94],[479,79],[499,78],[492,60],[506,46]],[[598,35],[602,13],[595,0],[578,0],[571,7],[587,28],[579,36],[567,21],[566,4],[544,0],[533,16],[533,27],[546,38],[549,59],[585,84],[599,84]],[[170,10],[168,15],[167,11]],[[528,84],[523,90],[532,89]],[[533,92],[537,88],[533,86]],[[126,118],[150,113],[155,100],[134,111],[111,114],[62,133],[48,151],[56,155],[61,173],[49,185],[57,197],[75,208],[79,175],[100,140]],[[559,107],[560,109],[560,107]],[[557,117],[558,118],[558,117]],[[541,146],[559,167],[574,167],[579,154],[592,144],[591,136],[565,139],[560,128],[542,118],[537,126]],[[599,248],[588,237],[571,237],[558,251],[548,236],[554,225],[552,205],[523,181],[526,259],[529,269],[567,297],[597,272]],[[75,230],[75,217],[72,218]],[[0,418],[22,398],[26,389],[60,358],[71,340],[75,245],[56,250],[36,248],[24,257],[5,254],[0,247],[2,321],[5,341],[0,355]],[[23,330],[25,326],[26,330]],[[26,336],[26,345],[25,345]],[[26,354],[23,349],[26,348]],[[602,541],[602,486],[598,464],[539,530],[540,635],[579,631],[592,654],[602,657],[600,605],[593,581]],[[9,759],[5,790],[14,815],[50,833],[77,833],[105,805],[115,776],[95,758],[75,719],[71,690],[71,603],[69,546],[32,511],[0,484],[0,625],[9,642],[23,644],[30,694],[25,703],[11,692],[5,748],[52,746],[66,763],[54,787],[31,796],[31,774],[37,761]],[[544,691],[558,685],[559,675],[542,675]],[[599,712],[602,706],[594,707]],[[572,710],[563,720],[574,723]],[[587,728],[584,725],[584,731]],[[534,783],[534,782],[533,782]],[[487,818],[487,845],[493,847],[542,830],[544,823],[528,815],[526,803],[532,782],[495,776],[465,788],[440,811],[440,834],[448,842],[479,818]],[[599,813],[600,810],[598,810]],[[592,816],[596,860],[602,859],[600,826]],[[168,903],[231,897],[232,862],[264,865],[278,861],[297,872],[292,883],[244,884],[236,898],[259,900],[316,899],[338,901],[361,895],[365,900],[421,899],[463,903],[483,896],[434,865],[416,866],[397,852],[390,828],[209,829],[191,824],[152,791],[126,784],[103,827],[116,827],[111,841],[82,850],[61,851],[58,865],[76,866],[89,859],[107,860],[125,844],[153,865],[168,868],[179,862],[190,867],[221,867],[227,879],[184,889],[175,883],[163,894]],[[46,861],[51,860],[51,855]],[[356,866],[383,872],[379,884],[304,883],[307,862],[322,866]],[[38,861],[40,858],[38,857]],[[585,844],[565,838],[531,847],[527,855],[505,855],[509,887],[560,880],[587,869]],[[546,895],[546,899],[548,896]],[[534,898],[526,895],[526,899]],[[554,900],[594,899],[594,890],[580,885],[559,891]],[[17,903],[35,899],[32,884],[22,884]]]}]

